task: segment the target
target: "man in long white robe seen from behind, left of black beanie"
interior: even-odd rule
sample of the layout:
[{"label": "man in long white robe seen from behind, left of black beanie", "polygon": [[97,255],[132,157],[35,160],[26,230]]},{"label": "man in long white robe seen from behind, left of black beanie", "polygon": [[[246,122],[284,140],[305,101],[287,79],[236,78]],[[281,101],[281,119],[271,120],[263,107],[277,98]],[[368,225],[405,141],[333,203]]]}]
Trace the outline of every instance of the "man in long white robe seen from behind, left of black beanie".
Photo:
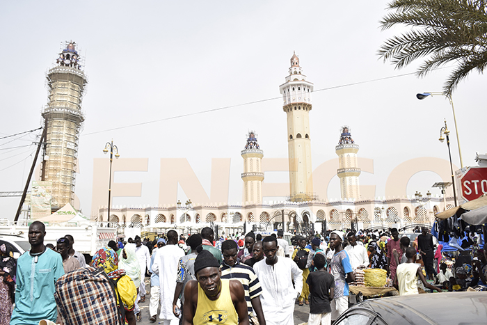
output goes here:
[{"label": "man in long white robe seen from behind, left of black beanie", "polygon": [[159,318],[163,325],[176,325],[179,319],[173,314],[173,298],[176,290],[177,266],[184,251],[177,246],[177,232],[168,231],[166,246],[157,249],[152,271],[159,275],[159,292],[161,293],[161,312]]}]

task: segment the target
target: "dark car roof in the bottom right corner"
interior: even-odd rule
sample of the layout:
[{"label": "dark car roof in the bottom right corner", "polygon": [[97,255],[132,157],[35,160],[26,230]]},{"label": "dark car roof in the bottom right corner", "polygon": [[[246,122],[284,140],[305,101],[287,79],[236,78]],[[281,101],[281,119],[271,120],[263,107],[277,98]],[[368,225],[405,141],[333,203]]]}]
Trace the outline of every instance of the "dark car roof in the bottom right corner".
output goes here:
[{"label": "dark car roof in the bottom right corner", "polygon": [[334,325],[459,325],[487,323],[487,292],[445,292],[370,299]]}]

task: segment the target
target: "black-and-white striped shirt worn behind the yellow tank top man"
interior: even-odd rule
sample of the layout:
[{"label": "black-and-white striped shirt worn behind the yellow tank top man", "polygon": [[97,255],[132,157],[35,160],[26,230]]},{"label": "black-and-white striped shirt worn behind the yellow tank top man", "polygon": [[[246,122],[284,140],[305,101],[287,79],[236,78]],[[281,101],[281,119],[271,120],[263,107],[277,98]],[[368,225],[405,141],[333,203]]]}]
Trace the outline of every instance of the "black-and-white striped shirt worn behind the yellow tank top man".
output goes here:
[{"label": "black-and-white striped shirt worn behind the yellow tank top man", "polygon": [[255,275],[254,269],[246,264],[240,262],[235,263],[233,267],[229,267],[225,262],[221,266],[221,278],[239,280],[244,286],[245,300],[247,301],[247,310],[249,315],[252,314],[252,303],[250,299],[254,299],[262,294],[259,279]]}]

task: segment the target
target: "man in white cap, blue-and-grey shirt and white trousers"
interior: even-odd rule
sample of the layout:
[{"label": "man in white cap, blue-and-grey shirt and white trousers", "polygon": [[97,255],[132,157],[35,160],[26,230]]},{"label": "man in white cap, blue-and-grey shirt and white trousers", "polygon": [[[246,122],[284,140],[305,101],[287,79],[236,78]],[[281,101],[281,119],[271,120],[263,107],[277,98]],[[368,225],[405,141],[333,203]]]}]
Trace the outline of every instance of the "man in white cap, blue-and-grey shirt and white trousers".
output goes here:
[{"label": "man in white cap, blue-and-grey shirt and white trousers", "polygon": [[330,303],[333,321],[349,309],[349,282],[355,281],[350,257],[342,246],[343,235],[338,230],[330,234],[330,248],[335,250],[330,262],[330,274],[335,278],[334,298]]}]

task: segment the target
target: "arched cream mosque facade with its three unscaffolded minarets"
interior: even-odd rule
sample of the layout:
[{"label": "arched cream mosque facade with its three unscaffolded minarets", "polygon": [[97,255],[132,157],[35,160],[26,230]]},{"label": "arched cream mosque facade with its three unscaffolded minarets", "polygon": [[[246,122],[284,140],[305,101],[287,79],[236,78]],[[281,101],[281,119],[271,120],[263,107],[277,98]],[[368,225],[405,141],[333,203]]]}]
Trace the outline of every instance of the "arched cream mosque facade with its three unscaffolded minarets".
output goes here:
[{"label": "arched cream mosque facade with its three unscaffolded minarets", "polygon": [[225,233],[243,231],[244,225],[260,230],[282,228],[293,232],[321,232],[325,229],[397,228],[430,224],[434,214],[454,206],[452,197],[425,199],[396,197],[363,200],[360,196],[358,145],[351,137],[351,128],[340,129],[335,147],[339,157],[337,176],[340,178],[340,200],[320,200],[312,194],[311,132],[309,114],[312,109],[313,84],[303,75],[299,58],[291,58],[289,75],[280,85],[283,110],[287,114],[287,143],[289,154],[289,199],[263,202],[262,157],[264,151],[257,142],[257,134],[249,132],[241,157],[244,204],[196,204],[99,208],[97,220],[105,226],[143,228],[145,231],[179,228],[182,230],[216,226]]}]

